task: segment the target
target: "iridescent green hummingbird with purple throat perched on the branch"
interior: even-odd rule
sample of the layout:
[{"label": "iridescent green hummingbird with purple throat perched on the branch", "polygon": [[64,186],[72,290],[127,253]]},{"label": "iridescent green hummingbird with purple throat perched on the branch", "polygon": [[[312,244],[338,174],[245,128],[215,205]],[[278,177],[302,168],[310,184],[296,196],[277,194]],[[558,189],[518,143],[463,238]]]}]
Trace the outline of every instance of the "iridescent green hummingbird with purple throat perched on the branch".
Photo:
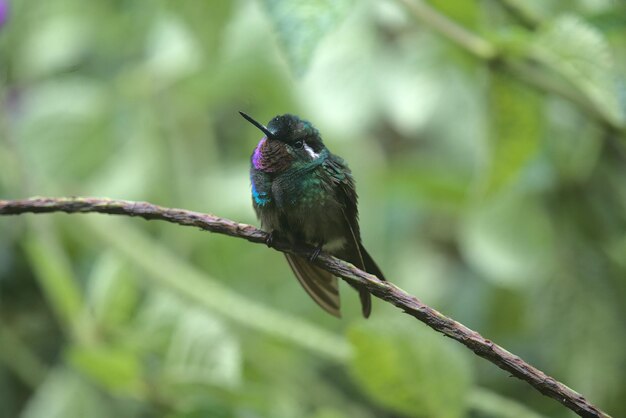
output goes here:
[{"label": "iridescent green hummingbird with purple throat perched on the branch", "polygon": [[[309,259],[285,257],[309,296],[341,317],[337,278],[312,263],[322,250],[385,280],[361,243],[352,172],[326,148],[310,122],[285,114],[265,126],[239,113],[264,134],[250,158],[250,182],[252,205],[261,228],[270,234],[268,245],[280,238],[314,247]],[[369,317],[370,293],[351,286],[359,292],[363,316]]]}]

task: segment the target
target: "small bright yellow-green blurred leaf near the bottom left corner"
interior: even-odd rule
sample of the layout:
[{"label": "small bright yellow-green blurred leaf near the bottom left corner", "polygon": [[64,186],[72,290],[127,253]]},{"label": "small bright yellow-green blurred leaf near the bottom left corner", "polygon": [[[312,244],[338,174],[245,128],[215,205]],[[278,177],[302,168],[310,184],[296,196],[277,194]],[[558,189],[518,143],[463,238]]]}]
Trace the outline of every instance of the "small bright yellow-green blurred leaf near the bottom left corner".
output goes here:
[{"label": "small bright yellow-green blurred leaf near the bottom left corner", "polygon": [[80,373],[113,393],[138,394],[141,391],[141,364],[138,353],[121,347],[71,347],[69,363]]}]

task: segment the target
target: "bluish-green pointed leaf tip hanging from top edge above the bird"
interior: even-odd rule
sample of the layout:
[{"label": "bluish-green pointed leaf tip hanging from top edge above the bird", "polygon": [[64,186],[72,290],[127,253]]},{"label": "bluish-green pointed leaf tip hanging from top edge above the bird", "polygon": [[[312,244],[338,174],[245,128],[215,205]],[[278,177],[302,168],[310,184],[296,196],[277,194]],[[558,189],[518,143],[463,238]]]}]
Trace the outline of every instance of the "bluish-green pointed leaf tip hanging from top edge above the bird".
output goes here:
[{"label": "bluish-green pointed leaf tip hanging from top edge above the bird", "polygon": [[352,0],[263,0],[296,74],[303,74],[315,48],[350,11]]}]

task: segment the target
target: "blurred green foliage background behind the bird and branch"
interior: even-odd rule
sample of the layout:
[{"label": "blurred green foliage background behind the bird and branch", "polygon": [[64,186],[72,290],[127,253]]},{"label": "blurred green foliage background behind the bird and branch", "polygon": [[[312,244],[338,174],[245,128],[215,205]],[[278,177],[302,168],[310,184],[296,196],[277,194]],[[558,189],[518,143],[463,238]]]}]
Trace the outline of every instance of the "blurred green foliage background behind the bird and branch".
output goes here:
[{"label": "blurred green foliage background behind the bird and branch", "polygon": [[[394,283],[626,415],[626,6],[0,0],[0,198],[256,224],[260,121],[311,120]],[[280,253],[105,215],[0,219],[0,417],[567,417]]]}]

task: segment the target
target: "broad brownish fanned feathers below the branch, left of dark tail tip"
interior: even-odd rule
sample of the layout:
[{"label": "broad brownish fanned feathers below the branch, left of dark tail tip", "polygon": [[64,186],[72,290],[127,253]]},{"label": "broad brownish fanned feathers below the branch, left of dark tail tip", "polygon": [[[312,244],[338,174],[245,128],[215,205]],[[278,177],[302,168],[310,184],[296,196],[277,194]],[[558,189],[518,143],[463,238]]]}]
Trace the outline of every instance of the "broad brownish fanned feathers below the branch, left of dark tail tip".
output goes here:
[{"label": "broad brownish fanned feathers below the branch, left of dark tail tip", "polygon": [[337,278],[308,260],[285,254],[289,266],[311,298],[326,312],[341,317]]}]

